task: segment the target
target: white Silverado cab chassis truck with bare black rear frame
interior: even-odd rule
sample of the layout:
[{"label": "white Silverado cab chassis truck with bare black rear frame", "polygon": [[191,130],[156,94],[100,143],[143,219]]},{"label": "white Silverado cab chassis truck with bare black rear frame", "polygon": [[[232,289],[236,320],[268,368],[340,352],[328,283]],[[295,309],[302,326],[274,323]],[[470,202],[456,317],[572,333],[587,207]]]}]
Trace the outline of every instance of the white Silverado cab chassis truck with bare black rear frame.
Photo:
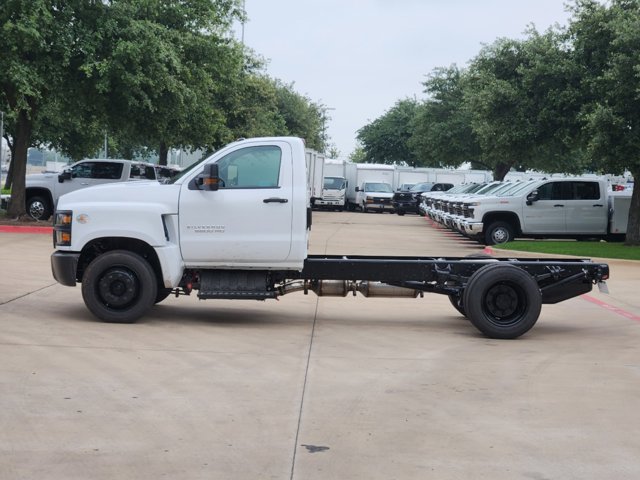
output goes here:
[{"label": "white Silverado cab chassis truck with bare black rear frame", "polygon": [[484,335],[516,338],[543,303],[589,292],[606,264],[568,259],[308,255],[303,141],[226,146],[169,183],[128,182],[61,197],[55,279],[81,284],[88,309],[131,323],[168,295],[201,299],[447,295]]}]

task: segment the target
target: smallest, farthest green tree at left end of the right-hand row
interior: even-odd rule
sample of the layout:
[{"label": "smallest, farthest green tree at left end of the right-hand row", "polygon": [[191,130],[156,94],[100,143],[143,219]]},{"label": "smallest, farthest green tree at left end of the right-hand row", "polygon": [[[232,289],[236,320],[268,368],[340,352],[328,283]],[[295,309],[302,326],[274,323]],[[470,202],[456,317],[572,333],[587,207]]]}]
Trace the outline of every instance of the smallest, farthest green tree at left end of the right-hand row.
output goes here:
[{"label": "smallest, farthest green tree at left end of the right-hand row", "polygon": [[365,161],[419,166],[409,145],[417,111],[417,100],[400,100],[384,115],[358,130],[357,139],[362,144]]}]

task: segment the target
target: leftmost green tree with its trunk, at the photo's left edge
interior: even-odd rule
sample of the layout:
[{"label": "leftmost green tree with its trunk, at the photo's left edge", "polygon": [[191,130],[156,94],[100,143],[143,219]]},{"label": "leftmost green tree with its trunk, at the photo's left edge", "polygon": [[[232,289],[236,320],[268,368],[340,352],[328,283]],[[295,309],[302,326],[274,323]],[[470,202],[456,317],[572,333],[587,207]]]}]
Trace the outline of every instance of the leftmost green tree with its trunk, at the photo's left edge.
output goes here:
[{"label": "leftmost green tree with its trunk, at the photo's left edge", "polygon": [[7,0],[0,9],[0,109],[13,139],[10,216],[25,213],[27,151],[41,139],[39,125],[57,105],[87,91],[78,67],[96,49],[92,33],[105,8],[79,0]]}]

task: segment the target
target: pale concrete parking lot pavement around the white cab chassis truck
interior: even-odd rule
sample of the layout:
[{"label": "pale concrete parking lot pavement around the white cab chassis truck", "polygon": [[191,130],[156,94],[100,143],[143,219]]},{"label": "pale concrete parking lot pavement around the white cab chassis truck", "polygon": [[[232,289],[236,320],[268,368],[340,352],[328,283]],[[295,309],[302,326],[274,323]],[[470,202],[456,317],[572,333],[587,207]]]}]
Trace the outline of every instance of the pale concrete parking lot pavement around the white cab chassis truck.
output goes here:
[{"label": "pale concrete parking lot pavement around the white cab chassis truck", "polygon": [[[413,215],[314,212],[310,250],[481,247]],[[637,263],[499,341],[439,295],[192,295],[105,324],[51,252],[0,233],[3,480],[640,478]]]}]

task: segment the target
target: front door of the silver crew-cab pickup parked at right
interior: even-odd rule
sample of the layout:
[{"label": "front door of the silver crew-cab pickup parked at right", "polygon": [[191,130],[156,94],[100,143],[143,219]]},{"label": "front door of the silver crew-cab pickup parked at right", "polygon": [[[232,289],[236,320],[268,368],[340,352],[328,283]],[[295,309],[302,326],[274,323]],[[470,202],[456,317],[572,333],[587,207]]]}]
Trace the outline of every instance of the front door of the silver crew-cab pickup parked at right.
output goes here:
[{"label": "front door of the silver crew-cab pickup parked at right", "polygon": [[538,188],[538,200],[524,205],[524,233],[565,233],[565,201],[562,182],[548,182]]}]

